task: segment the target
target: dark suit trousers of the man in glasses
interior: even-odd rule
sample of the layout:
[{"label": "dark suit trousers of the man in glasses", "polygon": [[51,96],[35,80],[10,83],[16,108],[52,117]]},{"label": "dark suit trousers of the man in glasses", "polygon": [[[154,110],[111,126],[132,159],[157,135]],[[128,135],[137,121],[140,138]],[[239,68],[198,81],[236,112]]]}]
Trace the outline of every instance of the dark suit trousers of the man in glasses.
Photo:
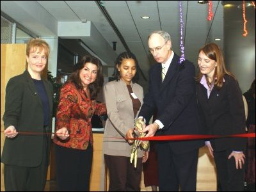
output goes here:
[{"label": "dark suit trousers of the man in glasses", "polygon": [[159,191],[196,191],[198,149],[175,154],[168,143],[157,143]]}]

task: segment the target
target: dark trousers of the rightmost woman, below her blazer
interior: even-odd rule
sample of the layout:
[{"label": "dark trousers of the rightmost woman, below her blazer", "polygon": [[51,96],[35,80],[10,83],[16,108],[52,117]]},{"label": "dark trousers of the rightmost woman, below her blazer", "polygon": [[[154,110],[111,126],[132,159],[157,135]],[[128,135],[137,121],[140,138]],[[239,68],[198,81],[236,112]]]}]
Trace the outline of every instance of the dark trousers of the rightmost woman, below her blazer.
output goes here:
[{"label": "dark trousers of the rightmost woman, below her blazer", "polygon": [[244,166],[236,169],[234,157],[228,159],[230,150],[214,152],[218,182],[221,191],[243,191],[244,189]]}]

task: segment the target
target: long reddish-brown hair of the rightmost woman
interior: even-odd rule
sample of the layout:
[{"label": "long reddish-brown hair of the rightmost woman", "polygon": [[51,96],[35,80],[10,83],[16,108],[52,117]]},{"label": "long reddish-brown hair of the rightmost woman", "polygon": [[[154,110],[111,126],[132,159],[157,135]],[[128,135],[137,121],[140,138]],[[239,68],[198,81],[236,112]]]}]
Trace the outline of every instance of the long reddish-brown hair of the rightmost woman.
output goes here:
[{"label": "long reddish-brown hair of the rightmost woman", "polygon": [[[228,72],[226,69],[223,54],[218,45],[214,43],[204,45],[204,47],[199,49],[198,53],[201,51],[204,52],[205,56],[211,60],[216,61],[217,63],[216,70],[214,72],[214,78],[216,78],[214,85],[216,85],[217,88],[221,88],[223,86],[223,77],[225,74],[228,74],[229,76],[232,76],[234,79],[236,79],[235,76],[231,72]],[[196,81],[200,82],[202,76],[204,76],[204,74],[199,72],[198,76],[196,77]]]}]

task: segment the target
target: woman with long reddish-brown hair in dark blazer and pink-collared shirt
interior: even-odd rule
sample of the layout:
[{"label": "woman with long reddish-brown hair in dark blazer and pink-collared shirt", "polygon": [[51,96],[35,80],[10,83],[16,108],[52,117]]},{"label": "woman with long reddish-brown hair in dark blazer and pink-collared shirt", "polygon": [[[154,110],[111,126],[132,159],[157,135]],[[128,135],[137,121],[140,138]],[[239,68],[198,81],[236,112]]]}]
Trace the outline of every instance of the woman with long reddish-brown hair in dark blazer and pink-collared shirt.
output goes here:
[{"label": "woman with long reddish-brown hair in dark blazer and pink-collared shirt", "polygon": [[[242,93],[234,76],[225,68],[216,44],[199,50],[196,95],[205,134],[241,134],[245,132]],[[244,138],[217,138],[205,141],[217,169],[222,191],[243,191]]]}]

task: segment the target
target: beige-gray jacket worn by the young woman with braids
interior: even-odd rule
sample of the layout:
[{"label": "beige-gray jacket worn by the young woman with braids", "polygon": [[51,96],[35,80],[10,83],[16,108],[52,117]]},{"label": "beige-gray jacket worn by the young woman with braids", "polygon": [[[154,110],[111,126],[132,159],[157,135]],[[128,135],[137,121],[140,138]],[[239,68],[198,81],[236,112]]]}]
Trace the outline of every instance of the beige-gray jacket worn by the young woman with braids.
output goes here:
[{"label": "beige-gray jacket worn by the young woman with braids", "polygon": [[[143,88],[131,83],[133,93],[143,104]],[[111,81],[104,86],[104,100],[106,102],[108,120],[106,121],[103,154],[111,156],[131,156],[131,147],[124,140],[128,129],[134,127],[134,113],[132,99],[124,81]],[[137,114],[138,115],[138,114]],[[138,157],[142,157],[142,150],[138,150]]]}]

